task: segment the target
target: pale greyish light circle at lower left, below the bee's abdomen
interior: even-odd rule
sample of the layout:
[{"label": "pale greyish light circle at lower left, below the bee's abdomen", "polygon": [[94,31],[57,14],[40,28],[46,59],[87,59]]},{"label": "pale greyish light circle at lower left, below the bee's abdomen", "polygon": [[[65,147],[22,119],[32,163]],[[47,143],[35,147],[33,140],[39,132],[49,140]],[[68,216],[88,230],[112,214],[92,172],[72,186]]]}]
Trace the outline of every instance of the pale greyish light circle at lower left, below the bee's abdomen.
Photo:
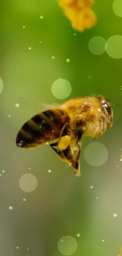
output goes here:
[{"label": "pale greyish light circle at lower left, below the bee's abdomen", "polygon": [[37,184],[37,178],[31,173],[22,175],[19,180],[19,186],[25,192],[34,191],[37,187]]}]

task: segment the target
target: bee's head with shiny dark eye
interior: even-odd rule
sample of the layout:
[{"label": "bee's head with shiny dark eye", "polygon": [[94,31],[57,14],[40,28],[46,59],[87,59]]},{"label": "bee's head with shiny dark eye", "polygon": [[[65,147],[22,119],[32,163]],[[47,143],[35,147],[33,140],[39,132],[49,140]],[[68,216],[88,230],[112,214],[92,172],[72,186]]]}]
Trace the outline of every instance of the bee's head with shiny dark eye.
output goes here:
[{"label": "bee's head with shiny dark eye", "polygon": [[110,105],[110,100],[106,99],[102,95],[97,95],[96,96],[101,104],[101,110],[107,117],[107,129],[110,129],[113,123],[113,110],[112,110],[112,105]]}]

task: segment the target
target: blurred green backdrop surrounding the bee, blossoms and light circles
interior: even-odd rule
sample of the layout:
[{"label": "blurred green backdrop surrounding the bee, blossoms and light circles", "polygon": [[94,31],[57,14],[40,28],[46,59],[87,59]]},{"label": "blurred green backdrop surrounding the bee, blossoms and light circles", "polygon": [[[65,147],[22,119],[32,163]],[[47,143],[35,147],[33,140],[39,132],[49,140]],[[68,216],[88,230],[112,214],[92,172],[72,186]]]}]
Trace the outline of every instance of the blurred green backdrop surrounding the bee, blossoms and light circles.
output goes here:
[{"label": "blurred green backdrop surrounding the bee, blossoms and light circles", "polygon": [[[94,36],[107,40],[122,34],[122,19],[114,14],[112,4],[97,0],[93,8],[97,25],[80,33],[72,29],[57,1],[1,3],[0,77],[4,87],[0,95],[0,255],[60,256],[58,241],[66,235],[77,240],[74,256],[119,254],[122,108],[113,108],[113,126],[98,140],[108,150],[105,164],[87,164],[84,149],[92,141],[84,138],[80,178],[74,177],[72,168],[65,168],[49,146],[24,150],[15,143],[24,122],[45,110],[46,104],[90,94],[104,95],[113,104],[122,103],[122,60],[112,59],[106,52],[95,56],[88,49]],[[51,93],[52,83],[59,78],[68,80],[72,87],[71,95],[64,100]],[[38,180],[31,193],[19,187],[25,173]],[[9,206],[13,207],[11,211]]]}]

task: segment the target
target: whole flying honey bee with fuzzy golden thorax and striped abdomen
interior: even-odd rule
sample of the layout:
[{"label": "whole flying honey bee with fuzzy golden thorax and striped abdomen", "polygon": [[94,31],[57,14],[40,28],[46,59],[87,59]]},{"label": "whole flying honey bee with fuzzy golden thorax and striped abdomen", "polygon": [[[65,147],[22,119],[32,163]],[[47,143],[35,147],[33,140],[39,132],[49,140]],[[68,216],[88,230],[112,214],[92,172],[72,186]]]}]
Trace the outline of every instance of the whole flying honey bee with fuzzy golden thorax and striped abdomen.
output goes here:
[{"label": "whole flying honey bee with fuzzy golden thorax and striped abdomen", "polygon": [[58,157],[74,168],[74,175],[80,176],[81,140],[84,136],[98,139],[111,128],[112,106],[101,95],[71,99],[23,124],[16,137],[16,145],[31,149],[50,144]]}]

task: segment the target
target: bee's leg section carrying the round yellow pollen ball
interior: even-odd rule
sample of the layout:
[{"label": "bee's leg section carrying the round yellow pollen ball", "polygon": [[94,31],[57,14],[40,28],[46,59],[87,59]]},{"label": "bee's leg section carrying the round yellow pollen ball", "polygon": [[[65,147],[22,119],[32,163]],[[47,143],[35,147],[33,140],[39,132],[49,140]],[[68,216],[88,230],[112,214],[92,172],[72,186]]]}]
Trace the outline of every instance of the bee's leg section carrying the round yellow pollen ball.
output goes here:
[{"label": "bee's leg section carrying the round yellow pollen ball", "polygon": [[68,123],[64,124],[64,127],[62,128],[58,146],[61,150],[65,150],[71,141],[71,129],[70,125]]}]

